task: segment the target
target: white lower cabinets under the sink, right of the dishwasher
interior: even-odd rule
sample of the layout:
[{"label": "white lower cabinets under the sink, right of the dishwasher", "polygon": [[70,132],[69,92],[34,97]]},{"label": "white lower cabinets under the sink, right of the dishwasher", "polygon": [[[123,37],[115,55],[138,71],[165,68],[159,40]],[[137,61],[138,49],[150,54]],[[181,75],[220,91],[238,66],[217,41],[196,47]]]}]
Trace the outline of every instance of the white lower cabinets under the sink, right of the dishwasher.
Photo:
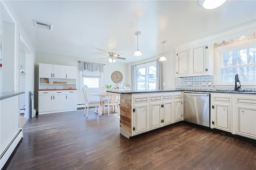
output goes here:
[{"label": "white lower cabinets under the sink, right of the dishwasher", "polygon": [[255,94],[211,94],[211,128],[256,139]]}]

